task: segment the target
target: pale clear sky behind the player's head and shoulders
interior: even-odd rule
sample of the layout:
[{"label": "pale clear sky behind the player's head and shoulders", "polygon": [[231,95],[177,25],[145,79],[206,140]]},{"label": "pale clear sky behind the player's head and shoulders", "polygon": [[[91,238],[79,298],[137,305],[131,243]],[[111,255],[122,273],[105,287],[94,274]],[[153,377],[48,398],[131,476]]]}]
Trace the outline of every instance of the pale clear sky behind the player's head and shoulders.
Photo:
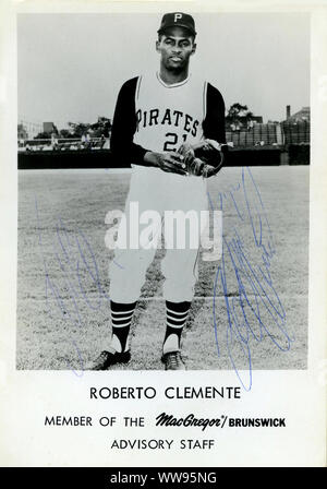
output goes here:
[{"label": "pale clear sky behind the player's head and shoulders", "polygon": [[[247,105],[264,121],[310,105],[310,16],[194,14],[191,72]],[[158,13],[19,14],[19,120],[95,122],[112,118],[120,86],[158,70]]]}]

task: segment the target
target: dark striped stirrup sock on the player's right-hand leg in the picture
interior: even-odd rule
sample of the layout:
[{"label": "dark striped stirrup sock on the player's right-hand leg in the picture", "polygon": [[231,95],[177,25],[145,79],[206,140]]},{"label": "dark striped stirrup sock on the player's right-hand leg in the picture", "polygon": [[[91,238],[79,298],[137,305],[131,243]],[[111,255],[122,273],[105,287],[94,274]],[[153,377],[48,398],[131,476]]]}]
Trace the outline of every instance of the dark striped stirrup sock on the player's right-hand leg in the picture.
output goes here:
[{"label": "dark striped stirrup sock on the player's right-hand leg in the picture", "polygon": [[166,300],[167,327],[164,339],[162,353],[181,349],[181,336],[185,325],[191,302],[170,302]]}]

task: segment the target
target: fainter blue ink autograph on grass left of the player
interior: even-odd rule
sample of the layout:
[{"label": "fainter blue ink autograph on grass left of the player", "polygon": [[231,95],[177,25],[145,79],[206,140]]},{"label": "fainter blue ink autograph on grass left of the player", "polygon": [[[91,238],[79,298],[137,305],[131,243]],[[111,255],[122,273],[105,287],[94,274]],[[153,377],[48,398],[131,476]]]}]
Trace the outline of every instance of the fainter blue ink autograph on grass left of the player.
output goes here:
[{"label": "fainter blue ink autograph on grass left of the player", "polygon": [[[69,307],[64,303],[64,299],[60,295],[60,290],[56,285],[53,278],[50,277],[48,264],[46,261],[46,257],[44,253],[44,243],[41,236],[41,226],[38,211],[38,203],[35,196],[35,212],[36,212],[36,220],[37,220],[37,232],[38,232],[38,244],[43,257],[44,270],[45,270],[45,278],[46,278],[46,302],[48,307],[48,311],[50,311],[51,305],[49,303],[49,296],[52,296],[57,306],[59,307],[62,318],[65,321],[71,321],[73,325],[78,327],[83,327],[83,320],[81,315],[81,311],[78,308],[78,300],[84,300],[86,306],[93,311],[99,310],[102,307],[104,300],[109,301],[110,298],[102,289],[99,278],[99,271],[97,266],[97,262],[92,250],[92,247],[83,234],[82,230],[77,229],[74,239],[70,239],[69,230],[64,227],[61,217],[58,217],[56,224],[56,236],[57,241],[52,244],[55,247],[55,258],[57,260],[57,264],[59,265],[59,270],[62,272],[61,277],[61,289],[65,289],[68,300],[72,301],[72,311],[70,311]],[[82,274],[83,271],[83,274]],[[85,271],[87,273],[85,273]],[[85,286],[83,281],[89,279],[88,283],[88,293],[96,293],[93,301],[87,297]],[[77,282],[77,285],[74,285],[74,279]],[[93,303],[94,302],[94,303]],[[81,373],[76,370],[72,369],[69,361],[66,361],[68,367],[77,375],[83,375],[83,367],[84,360],[82,358],[78,345],[76,342],[72,341],[76,354],[78,356],[80,365],[81,365]]]}]

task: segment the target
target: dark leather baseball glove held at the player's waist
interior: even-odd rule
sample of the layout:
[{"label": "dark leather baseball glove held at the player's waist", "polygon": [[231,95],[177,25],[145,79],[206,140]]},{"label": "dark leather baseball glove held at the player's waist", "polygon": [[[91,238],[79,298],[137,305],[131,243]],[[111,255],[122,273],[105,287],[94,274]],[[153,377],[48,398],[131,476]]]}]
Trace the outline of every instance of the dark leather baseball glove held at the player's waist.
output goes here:
[{"label": "dark leather baseball glove held at the player's waist", "polygon": [[182,166],[189,175],[209,178],[217,175],[223,165],[221,146],[215,140],[204,140],[194,146],[182,144],[178,153],[184,157]]}]

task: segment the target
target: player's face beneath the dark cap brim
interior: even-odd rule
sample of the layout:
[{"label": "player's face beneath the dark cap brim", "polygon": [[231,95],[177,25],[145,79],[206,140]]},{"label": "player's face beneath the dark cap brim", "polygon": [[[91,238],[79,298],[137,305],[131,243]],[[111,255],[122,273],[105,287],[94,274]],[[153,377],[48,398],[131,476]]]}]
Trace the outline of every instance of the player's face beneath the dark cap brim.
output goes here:
[{"label": "player's face beneath the dark cap brim", "polygon": [[161,63],[167,70],[180,71],[189,65],[196,44],[187,29],[171,27],[157,40],[156,49],[161,55]]}]

